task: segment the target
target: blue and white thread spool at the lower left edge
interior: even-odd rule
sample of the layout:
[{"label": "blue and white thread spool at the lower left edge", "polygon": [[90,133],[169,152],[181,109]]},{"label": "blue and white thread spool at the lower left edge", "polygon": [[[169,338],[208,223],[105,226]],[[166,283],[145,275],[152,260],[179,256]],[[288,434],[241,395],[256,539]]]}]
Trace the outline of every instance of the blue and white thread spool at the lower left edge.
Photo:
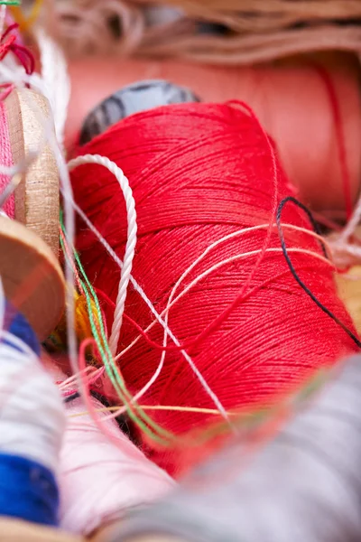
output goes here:
[{"label": "blue and white thread spool at the lower left edge", "polygon": [[62,401],[29,323],[8,304],[2,321],[0,516],[56,526]]}]

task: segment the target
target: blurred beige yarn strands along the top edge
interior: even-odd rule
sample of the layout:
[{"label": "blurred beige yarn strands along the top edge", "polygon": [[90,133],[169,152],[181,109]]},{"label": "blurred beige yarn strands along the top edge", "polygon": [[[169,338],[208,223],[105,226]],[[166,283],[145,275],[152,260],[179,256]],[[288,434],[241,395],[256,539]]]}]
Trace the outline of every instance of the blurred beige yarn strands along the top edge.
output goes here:
[{"label": "blurred beige yarn strands along the top edge", "polygon": [[[71,55],[115,52],[245,64],[361,51],[361,0],[48,0]],[[199,32],[199,23],[223,33]]]}]

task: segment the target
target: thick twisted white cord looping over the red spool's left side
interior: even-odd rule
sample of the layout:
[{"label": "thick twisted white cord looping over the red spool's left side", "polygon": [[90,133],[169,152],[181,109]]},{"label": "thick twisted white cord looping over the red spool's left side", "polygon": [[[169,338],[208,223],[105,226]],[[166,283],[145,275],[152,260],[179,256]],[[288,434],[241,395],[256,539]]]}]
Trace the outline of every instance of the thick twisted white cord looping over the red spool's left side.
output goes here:
[{"label": "thick twisted white cord looping over the red spool's left side", "polygon": [[100,156],[99,154],[85,154],[84,156],[79,156],[78,158],[71,160],[68,164],[68,167],[69,170],[72,170],[82,164],[99,164],[106,167],[106,169],[109,170],[110,173],[113,173],[113,175],[116,177],[117,182],[119,182],[119,186],[123,192],[125,199],[126,219],[128,223],[127,240],[125,245],[123,266],[121,267],[118,294],[116,296],[116,309],[114,312],[112,332],[109,339],[110,351],[112,352],[113,356],[116,356],[116,347],[119,341],[120,329],[123,322],[126,292],[132,272],[134,251],[136,245],[137,225],[135,201],[132,189],[129,185],[129,181],[125,177],[125,174],[123,173],[121,168],[118,167],[114,162],[112,162],[105,156]]}]

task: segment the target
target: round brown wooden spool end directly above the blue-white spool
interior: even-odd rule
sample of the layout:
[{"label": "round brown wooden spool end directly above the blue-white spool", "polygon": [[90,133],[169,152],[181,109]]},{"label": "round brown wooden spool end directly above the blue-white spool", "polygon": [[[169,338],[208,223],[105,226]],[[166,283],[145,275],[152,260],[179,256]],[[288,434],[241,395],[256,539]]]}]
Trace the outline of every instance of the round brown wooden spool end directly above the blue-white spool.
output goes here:
[{"label": "round brown wooden spool end directly above the blue-white spool", "polygon": [[16,220],[0,216],[0,276],[6,298],[28,319],[40,341],[60,321],[65,282],[57,257]]}]

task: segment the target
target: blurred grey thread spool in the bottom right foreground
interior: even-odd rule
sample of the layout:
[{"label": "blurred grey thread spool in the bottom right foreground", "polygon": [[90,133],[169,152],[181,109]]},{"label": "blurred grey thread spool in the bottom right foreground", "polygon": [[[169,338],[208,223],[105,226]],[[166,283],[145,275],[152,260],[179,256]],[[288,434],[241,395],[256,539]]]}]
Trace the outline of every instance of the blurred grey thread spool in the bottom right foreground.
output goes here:
[{"label": "blurred grey thread spool in the bottom right foreground", "polygon": [[264,533],[280,542],[357,540],[360,356],[336,377],[253,458],[245,439],[236,438],[166,499],[134,511],[93,542],[260,542]]}]

